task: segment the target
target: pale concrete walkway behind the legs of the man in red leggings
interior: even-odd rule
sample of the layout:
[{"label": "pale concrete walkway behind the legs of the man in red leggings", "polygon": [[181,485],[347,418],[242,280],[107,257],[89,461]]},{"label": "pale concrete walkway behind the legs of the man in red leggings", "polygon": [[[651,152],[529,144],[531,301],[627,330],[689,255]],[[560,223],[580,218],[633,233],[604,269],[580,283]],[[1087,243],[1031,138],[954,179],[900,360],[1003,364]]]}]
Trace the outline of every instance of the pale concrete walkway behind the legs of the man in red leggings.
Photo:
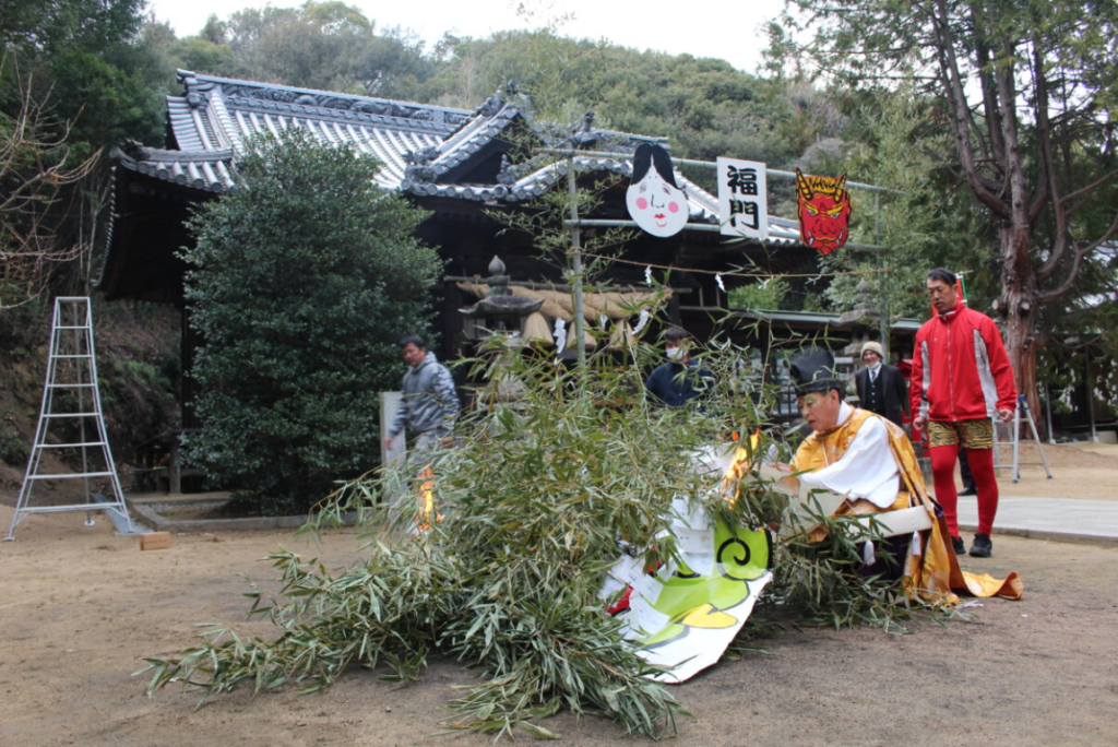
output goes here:
[{"label": "pale concrete walkway behind the legs of the man in red leggings", "polygon": [[[977,500],[974,495],[960,495],[959,528],[973,532],[977,526]],[[1118,501],[1003,494],[994,520],[995,538],[997,535],[1118,547]]]}]

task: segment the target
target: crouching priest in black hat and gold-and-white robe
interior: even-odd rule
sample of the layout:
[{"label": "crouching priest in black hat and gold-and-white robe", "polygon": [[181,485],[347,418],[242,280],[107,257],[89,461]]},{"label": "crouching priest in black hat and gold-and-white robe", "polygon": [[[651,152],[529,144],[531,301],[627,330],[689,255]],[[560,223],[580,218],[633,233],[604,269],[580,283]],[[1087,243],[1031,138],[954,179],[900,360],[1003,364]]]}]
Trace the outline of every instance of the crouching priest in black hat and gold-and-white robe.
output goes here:
[{"label": "crouching priest in black hat and gold-and-white robe", "polygon": [[[790,362],[799,410],[812,428],[792,469],[807,488],[844,497],[832,516],[873,514],[888,527],[890,512],[919,507],[928,514],[922,522],[927,528],[889,540],[890,551],[902,556],[898,567],[910,595],[947,605],[957,602],[954,592],[1020,598],[1023,584],[1016,574],[1001,580],[959,569],[942,512],[925,489],[912,443],[894,423],[843,401],[844,382],[834,372],[834,356],[812,348]],[[825,526],[809,535],[813,541],[825,536]],[[870,556],[872,550],[864,554],[868,565],[874,562]],[[879,567],[880,562],[873,565],[875,571]]]}]

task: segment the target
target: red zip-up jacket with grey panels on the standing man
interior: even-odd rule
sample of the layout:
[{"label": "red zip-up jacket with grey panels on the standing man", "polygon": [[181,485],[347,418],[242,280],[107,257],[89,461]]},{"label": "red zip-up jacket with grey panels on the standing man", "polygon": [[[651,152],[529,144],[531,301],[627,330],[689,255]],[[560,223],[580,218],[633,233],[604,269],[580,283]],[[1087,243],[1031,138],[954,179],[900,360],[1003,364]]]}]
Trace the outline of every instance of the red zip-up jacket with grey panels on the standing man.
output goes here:
[{"label": "red zip-up jacket with grey panels on the standing man", "polygon": [[929,420],[973,420],[1015,409],[1017,389],[1002,334],[986,314],[957,304],[916,333],[913,414]]}]

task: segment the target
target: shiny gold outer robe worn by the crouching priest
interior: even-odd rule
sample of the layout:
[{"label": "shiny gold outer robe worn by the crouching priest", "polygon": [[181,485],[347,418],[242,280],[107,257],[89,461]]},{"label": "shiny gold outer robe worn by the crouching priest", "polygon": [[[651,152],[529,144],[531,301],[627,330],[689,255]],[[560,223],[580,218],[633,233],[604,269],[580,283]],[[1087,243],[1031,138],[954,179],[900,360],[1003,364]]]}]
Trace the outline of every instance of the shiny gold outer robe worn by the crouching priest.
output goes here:
[{"label": "shiny gold outer robe worn by the crouching priest", "polygon": [[[855,408],[834,428],[811,434],[796,451],[794,469],[814,472],[827,464],[834,464],[854,442],[862,425],[871,417],[879,418],[889,432],[889,448],[901,479],[897,502],[882,511],[869,501],[847,500],[832,516],[883,513],[910,505],[923,505],[931,517],[931,529],[919,532],[920,541],[913,540],[904,558],[904,589],[910,596],[944,606],[958,603],[955,592],[978,597],[1001,596],[1020,599],[1024,584],[1017,574],[1011,573],[1006,578],[998,579],[988,574],[972,574],[959,568],[955,551],[947,539],[947,524],[941,517],[936,517],[936,504],[925,489],[923,475],[916,452],[912,450],[912,443],[897,424],[869,410]],[[823,539],[826,536],[825,530],[822,533],[819,531],[818,528],[814,530],[809,539],[812,541]]]}]

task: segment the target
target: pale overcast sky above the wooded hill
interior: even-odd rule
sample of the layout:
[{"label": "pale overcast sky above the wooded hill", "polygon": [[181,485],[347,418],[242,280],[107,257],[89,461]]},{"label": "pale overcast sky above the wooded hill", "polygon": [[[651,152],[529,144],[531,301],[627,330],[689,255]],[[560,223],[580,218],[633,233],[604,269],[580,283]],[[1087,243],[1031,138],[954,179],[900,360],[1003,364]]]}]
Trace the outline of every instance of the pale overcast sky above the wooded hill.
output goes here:
[{"label": "pale overcast sky above the wooded hill", "polygon": [[[378,28],[398,26],[410,29],[427,42],[427,48],[444,32],[457,36],[484,37],[493,31],[538,28],[543,19],[556,11],[574,13],[574,18],[559,28],[562,36],[590,39],[609,39],[615,44],[636,49],[666,51],[672,55],[691,54],[695,57],[718,57],[729,60],[738,69],[756,73],[761,60],[766,39],[761,25],[776,17],[784,0],[745,0],[742,2],[714,2],[693,0],[663,4],[605,2],[603,0],[562,0],[553,10],[539,11],[533,21],[517,15],[521,2],[515,0],[350,0]],[[294,0],[149,0],[155,18],[168,21],[180,37],[197,34],[210,13],[228,18],[244,8],[276,8],[301,6]],[[546,0],[529,1],[533,8],[546,8]],[[663,13],[652,12],[655,7]]]}]

